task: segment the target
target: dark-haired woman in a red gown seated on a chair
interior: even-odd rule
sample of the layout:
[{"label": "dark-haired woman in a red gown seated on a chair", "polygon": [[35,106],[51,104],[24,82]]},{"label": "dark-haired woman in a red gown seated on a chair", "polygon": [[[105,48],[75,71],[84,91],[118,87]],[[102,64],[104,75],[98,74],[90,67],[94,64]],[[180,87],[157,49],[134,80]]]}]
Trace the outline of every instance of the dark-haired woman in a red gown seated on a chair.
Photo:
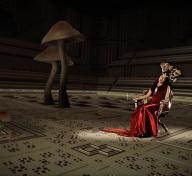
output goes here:
[{"label": "dark-haired woman in a red gown seated on a chair", "polygon": [[169,101],[170,86],[169,79],[162,74],[152,85],[148,93],[144,96],[136,96],[133,99],[142,100],[152,97],[151,101],[142,106],[138,106],[132,114],[130,129],[112,128],[102,130],[104,132],[116,133],[127,137],[150,137],[157,136],[158,113]]}]

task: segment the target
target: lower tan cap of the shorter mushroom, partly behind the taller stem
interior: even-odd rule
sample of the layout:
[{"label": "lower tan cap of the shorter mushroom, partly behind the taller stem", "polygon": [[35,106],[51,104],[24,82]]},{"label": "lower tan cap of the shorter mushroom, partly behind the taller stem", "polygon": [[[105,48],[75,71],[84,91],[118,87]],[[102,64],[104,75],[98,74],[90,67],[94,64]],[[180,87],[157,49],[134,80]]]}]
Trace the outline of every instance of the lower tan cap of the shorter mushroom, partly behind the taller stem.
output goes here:
[{"label": "lower tan cap of the shorter mushroom, partly behind the taller stem", "polygon": [[[59,48],[56,45],[50,45],[46,49],[44,49],[40,54],[34,57],[34,60],[45,63],[60,61]],[[68,66],[74,65],[74,62],[68,55],[67,55],[67,65]]]}]

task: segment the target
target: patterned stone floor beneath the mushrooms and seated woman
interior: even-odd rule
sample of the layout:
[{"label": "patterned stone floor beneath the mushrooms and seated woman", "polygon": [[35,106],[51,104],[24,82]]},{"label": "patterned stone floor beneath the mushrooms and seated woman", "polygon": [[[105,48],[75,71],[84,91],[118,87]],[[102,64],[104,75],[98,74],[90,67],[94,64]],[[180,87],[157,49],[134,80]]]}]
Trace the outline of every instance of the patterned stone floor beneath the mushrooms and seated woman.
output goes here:
[{"label": "patterned stone floor beneath the mushrooms and seated woman", "polygon": [[157,138],[141,139],[100,131],[129,127],[133,94],[69,96],[61,109],[43,105],[42,91],[0,90],[0,111],[12,117],[0,128],[0,176],[192,176],[192,97],[174,97],[170,134],[159,127]]}]

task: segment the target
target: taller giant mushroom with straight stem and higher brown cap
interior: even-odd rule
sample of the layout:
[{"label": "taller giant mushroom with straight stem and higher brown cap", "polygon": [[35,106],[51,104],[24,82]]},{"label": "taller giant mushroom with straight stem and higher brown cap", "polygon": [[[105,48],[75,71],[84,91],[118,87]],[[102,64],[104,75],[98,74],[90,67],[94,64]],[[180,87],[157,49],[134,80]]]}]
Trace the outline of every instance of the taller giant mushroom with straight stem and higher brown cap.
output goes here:
[{"label": "taller giant mushroom with straight stem and higher brown cap", "polygon": [[67,54],[66,44],[70,42],[84,41],[84,36],[74,29],[68,22],[59,21],[51,27],[48,33],[42,39],[42,44],[57,44],[59,49],[59,58],[61,60],[61,73],[59,85],[59,106],[69,108],[69,99],[67,95]]}]

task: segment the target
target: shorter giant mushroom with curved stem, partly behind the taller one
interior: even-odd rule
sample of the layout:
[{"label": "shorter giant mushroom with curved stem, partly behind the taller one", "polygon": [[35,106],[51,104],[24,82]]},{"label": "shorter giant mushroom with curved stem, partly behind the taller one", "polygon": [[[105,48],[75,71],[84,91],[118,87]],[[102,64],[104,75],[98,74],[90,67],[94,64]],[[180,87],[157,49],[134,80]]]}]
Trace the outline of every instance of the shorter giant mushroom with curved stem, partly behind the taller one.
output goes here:
[{"label": "shorter giant mushroom with curved stem, partly behind the taller one", "polygon": [[[59,49],[55,45],[50,45],[47,48],[45,48],[40,54],[38,54],[34,58],[34,60],[51,64],[51,72],[47,80],[44,91],[44,104],[53,105],[55,103],[51,94],[51,89],[57,74],[58,64],[60,62]],[[73,64],[74,62],[71,60],[69,56],[67,56],[67,65],[72,66]]]}]

